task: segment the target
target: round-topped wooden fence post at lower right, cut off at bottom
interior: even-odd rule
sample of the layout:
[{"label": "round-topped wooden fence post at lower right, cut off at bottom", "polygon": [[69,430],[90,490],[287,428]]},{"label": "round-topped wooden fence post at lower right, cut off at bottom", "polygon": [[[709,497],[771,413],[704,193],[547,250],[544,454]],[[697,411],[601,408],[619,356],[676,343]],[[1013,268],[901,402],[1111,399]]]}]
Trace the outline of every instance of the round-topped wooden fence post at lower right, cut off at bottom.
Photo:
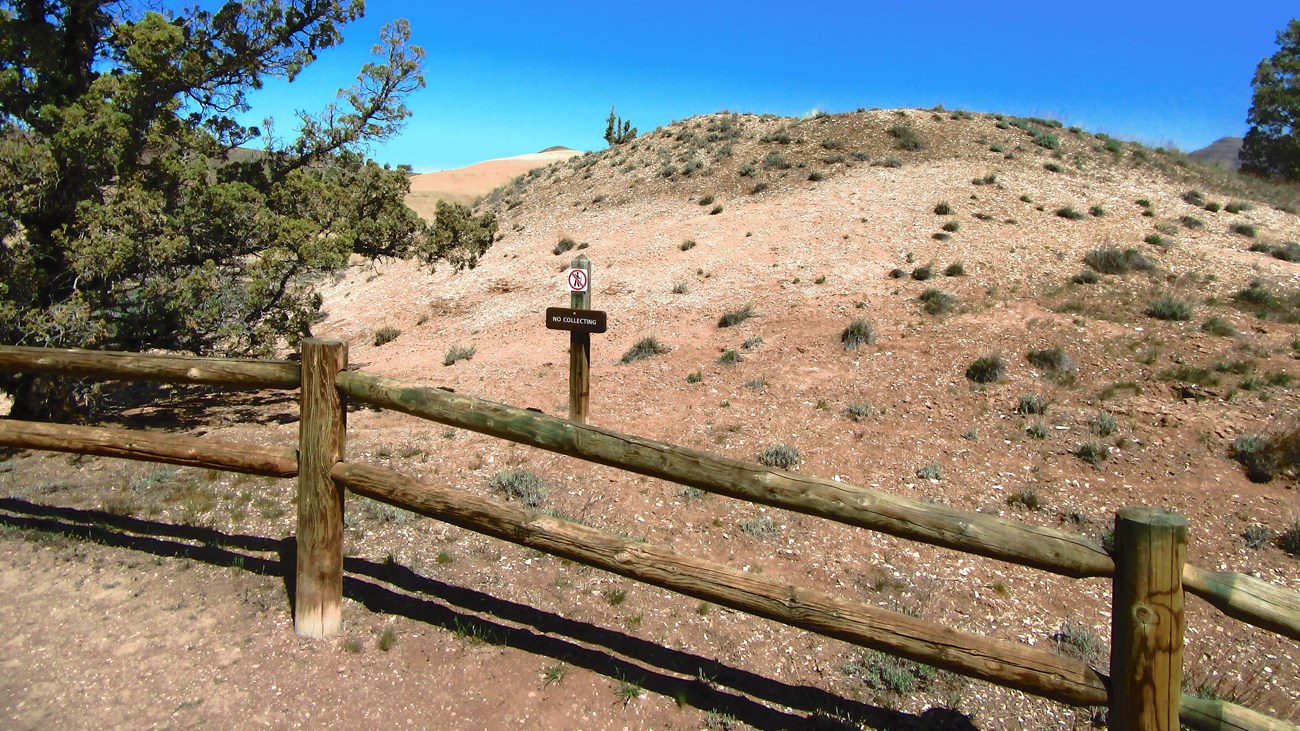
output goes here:
[{"label": "round-topped wooden fence post at lower right, cut off at bottom", "polygon": [[1187,519],[1156,507],[1115,514],[1110,728],[1178,731],[1183,684]]}]

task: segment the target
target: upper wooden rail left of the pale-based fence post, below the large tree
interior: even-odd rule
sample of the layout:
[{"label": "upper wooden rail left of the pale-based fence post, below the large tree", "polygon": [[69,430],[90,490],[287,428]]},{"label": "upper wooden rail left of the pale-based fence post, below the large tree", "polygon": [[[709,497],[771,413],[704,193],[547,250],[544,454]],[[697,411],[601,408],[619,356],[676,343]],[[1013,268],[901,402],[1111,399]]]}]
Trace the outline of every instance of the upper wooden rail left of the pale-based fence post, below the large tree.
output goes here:
[{"label": "upper wooden rail left of the pale-based fence post, below the large tree", "polygon": [[300,368],[291,360],[52,350],[14,345],[0,345],[0,371],[248,389],[292,390],[302,384]]}]

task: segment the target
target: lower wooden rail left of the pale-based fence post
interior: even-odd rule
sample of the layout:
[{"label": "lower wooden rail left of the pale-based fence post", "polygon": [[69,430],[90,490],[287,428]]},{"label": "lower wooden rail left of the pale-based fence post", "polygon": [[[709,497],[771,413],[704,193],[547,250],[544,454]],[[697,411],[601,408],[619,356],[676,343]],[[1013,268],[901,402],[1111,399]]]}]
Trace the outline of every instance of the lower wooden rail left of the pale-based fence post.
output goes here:
[{"label": "lower wooden rail left of the pale-based fence post", "polygon": [[298,453],[291,449],[103,427],[0,419],[0,446],[118,457],[265,477],[298,475]]}]

